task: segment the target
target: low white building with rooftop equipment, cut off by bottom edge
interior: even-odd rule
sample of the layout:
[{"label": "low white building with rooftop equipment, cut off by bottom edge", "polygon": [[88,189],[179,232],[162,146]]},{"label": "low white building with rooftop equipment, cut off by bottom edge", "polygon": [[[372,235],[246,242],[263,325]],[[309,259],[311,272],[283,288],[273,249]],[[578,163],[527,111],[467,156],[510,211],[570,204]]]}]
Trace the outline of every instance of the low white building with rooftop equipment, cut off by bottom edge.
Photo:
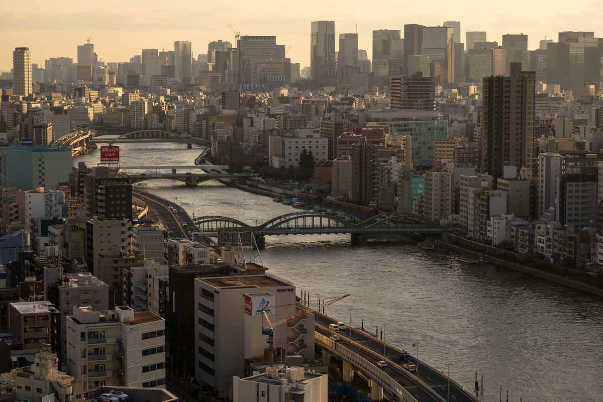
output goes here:
[{"label": "low white building with rooftop equipment, cut off by bottom edge", "polygon": [[327,374],[304,371],[303,367],[270,367],[251,377],[235,376],[233,401],[261,402],[268,395],[285,395],[290,401],[327,402],[328,383]]}]

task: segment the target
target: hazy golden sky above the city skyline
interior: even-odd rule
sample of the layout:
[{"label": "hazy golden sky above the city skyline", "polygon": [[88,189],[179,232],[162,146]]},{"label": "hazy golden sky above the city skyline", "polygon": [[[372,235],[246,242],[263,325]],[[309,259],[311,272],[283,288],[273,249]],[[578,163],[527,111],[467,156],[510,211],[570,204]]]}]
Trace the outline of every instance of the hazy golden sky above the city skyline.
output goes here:
[{"label": "hazy golden sky above the city skyline", "polygon": [[[599,4],[597,4],[599,3]],[[414,6],[419,4],[419,6]],[[140,49],[174,49],[174,40],[190,40],[193,56],[207,53],[207,43],[234,41],[226,27],[241,35],[276,35],[277,43],[291,45],[287,57],[301,66],[310,63],[309,33],[312,20],[334,20],[335,33],[356,31],[358,45],[371,58],[372,31],[402,30],[404,24],[441,25],[444,20],[461,21],[465,31],[487,31],[488,40],[501,42],[502,34],[528,34],[529,48],[541,39],[557,40],[559,31],[595,31],[603,36],[600,0],[507,0],[484,7],[483,0],[348,0],[325,1],[156,1],[122,0],[83,2],[4,1],[0,7],[0,70],[12,67],[12,51],[27,46],[33,63],[44,65],[49,57],[73,57],[77,45],[92,40],[103,61],[128,61]],[[337,45],[338,46],[338,45]]]}]

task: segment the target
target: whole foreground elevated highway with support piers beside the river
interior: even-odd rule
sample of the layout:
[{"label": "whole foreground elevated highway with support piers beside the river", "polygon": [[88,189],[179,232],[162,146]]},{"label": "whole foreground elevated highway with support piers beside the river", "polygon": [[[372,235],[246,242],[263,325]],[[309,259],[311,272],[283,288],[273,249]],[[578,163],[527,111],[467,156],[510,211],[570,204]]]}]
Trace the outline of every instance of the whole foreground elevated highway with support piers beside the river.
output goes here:
[{"label": "whole foreground elevated highway with support piers beside the river", "polygon": [[[298,309],[303,308],[308,307],[298,303]],[[323,350],[324,363],[338,367],[344,382],[353,382],[355,372],[362,372],[371,380],[371,400],[382,400],[385,391],[394,400],[405,402],[479,402],[468,389],[416,356],[410,356],[410,361],[417,366],[417,372],[409,372],[402,366],[402,350],[366,331],[346,325],[346,330],[336,333],[339,341],[333,341],[329,324],[337,324],[338,320],[316,310],[313,313],[314,339]],[[387,366],[378,367],[379,360],[387,362]]]}]

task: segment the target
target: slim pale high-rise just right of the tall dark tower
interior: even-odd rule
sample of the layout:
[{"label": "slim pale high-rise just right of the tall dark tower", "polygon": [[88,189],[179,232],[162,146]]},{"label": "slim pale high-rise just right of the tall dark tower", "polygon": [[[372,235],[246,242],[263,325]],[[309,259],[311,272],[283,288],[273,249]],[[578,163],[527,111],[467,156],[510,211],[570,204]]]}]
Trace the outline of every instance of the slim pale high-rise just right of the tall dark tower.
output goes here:
[{"label": "slim pale high-rise just right of the tall dark tower", "polygon": [[559,221],[561,203],[561,174],[564,171],[565,158],[554,152],[545,152],[538,155],[538,180],[536,193],[538,208],[536,218],[541,218],[551,207],[555,210],[551,218]]}]

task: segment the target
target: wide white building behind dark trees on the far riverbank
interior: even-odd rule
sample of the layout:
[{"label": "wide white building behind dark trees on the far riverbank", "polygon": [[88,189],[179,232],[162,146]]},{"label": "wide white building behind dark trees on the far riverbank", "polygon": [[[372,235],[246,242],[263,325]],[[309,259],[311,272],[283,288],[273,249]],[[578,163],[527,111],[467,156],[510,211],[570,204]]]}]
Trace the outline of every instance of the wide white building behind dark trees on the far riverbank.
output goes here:
[{"label": "wide white building behind dark trees on the far riverbank", "polygon": [[297,128],[293,134],[286,136],[271,136],[270,137],[270,166],[280,169],[299,166],[299,155],[301,151],[312,151],[314,160],[319,162],[327,160],[327,143],[326,137],[320,136],[318,128]]}]

